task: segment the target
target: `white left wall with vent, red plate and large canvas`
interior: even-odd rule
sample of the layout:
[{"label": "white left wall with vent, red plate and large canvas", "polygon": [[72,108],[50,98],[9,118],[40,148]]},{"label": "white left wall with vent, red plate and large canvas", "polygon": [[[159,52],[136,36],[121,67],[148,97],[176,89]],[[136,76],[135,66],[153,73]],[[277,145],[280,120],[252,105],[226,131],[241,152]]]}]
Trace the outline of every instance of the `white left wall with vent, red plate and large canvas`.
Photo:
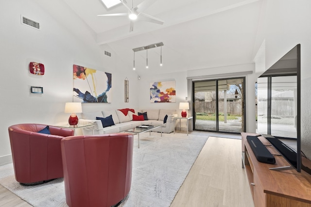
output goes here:
[{"label": "white left wall with vent, red plate and large canvas", "polygon": [[[40,31],[21,25],[20,15],[39,22]],[[9,126],[68,120],[69,114],[63,111],[65,102],[72,101],[73,64],[112,74],[112,103],[83,104],[83,111],[138,105],[135,93],[124,103],[124,79],[129,80],[131,91],[137,91],[136,74],[124,70],[114,53],[111,58],[104,57],[94,35],[86,32],[88,28],[77,16],[75,26],[81,31],[70,31],[36,0],[1,0],[0,17],[0,165],[11,160]],[[30,74],[28,67],[33,61],[45,65],[44,76]],[[30,94],[30,86],[43,87],[44,93]]]}]

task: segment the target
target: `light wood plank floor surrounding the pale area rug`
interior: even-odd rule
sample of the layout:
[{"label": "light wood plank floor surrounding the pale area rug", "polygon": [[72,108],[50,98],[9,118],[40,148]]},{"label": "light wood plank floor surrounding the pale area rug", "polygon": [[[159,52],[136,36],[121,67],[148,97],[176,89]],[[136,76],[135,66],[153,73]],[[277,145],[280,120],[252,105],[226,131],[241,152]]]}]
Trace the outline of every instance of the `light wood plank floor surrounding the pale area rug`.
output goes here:
[{"label": "light wood plank floor surrounding the pale area rug", "polygon": [[[241,145],[241,140],[209,137],[171,207],[254,207]],[[0,207],[31,205],[0,185]]]}]

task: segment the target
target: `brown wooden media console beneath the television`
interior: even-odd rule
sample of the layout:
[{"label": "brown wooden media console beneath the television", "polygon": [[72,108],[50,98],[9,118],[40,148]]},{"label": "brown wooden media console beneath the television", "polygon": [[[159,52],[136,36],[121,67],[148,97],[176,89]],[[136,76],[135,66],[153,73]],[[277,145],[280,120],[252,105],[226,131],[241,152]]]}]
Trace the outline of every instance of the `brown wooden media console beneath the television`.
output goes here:
[{"label": "brown wooden media console beneath the television", "polygon": [[242,132],[242,166],[245,168],[255,207],[311,207],[311,175],[296,170],[274,171],[269,168],[289,163],[262,136],[259,140],[274,155],[275,164],[259,162],[246,136],[259,134]]}]

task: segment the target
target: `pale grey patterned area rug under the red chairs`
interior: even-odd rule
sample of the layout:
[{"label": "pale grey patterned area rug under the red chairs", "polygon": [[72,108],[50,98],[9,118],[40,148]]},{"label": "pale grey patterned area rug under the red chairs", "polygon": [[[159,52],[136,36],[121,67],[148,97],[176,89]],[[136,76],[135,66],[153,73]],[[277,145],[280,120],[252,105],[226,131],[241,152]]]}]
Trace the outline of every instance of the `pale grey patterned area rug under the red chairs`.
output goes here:
[{"label": "pale grey patterned area rug under the red chairs", "polygon": [[[121,207],[169,207],[207,136],[176,133],[134,136],[130,193]],[[0,184],[34,207],[67,207],[64,180],[24,187],[15,180],[13,164],[0,166]]]}]

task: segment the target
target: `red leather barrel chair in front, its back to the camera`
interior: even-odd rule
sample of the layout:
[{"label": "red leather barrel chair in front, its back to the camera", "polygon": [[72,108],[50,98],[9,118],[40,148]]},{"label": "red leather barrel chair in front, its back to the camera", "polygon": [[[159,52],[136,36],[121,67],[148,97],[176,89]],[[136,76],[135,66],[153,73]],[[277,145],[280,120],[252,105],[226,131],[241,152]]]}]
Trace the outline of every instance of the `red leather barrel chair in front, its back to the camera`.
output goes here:
[{"label": "red leather barrel chair in front, its back to the camera", "polygon": [[133,135],[71,136],[61,141],[69,207],[119,205],[132,182]]}]

